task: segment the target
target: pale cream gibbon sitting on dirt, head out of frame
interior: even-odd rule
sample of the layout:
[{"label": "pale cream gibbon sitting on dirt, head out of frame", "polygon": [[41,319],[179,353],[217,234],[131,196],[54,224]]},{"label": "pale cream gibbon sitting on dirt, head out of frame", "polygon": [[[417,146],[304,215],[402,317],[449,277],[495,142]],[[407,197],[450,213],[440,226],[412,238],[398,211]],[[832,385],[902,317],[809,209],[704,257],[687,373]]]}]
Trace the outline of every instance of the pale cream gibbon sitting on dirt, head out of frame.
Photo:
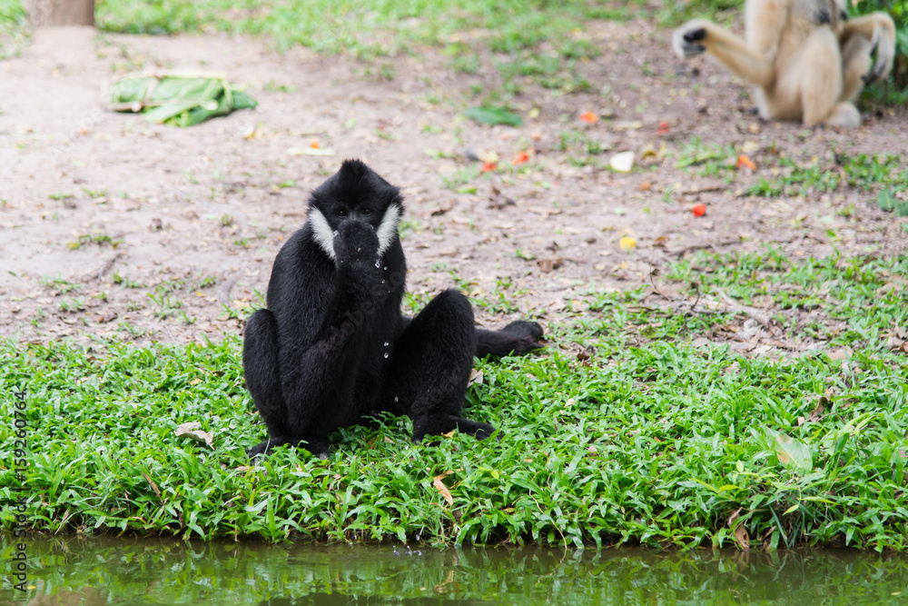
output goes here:
[{"label": "pale cream gibbon sitting on dirt, head out of frame", "polygon": [[895,55],[892,17],[849,19],[844,0],[746,0],[745,40],[704,19],[672,35],[678,56],[708,52],[755,84],[766,120],[808,126],[861,124],[854,100],[864,84],[889,75]]}]

